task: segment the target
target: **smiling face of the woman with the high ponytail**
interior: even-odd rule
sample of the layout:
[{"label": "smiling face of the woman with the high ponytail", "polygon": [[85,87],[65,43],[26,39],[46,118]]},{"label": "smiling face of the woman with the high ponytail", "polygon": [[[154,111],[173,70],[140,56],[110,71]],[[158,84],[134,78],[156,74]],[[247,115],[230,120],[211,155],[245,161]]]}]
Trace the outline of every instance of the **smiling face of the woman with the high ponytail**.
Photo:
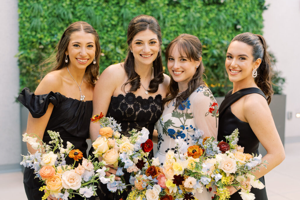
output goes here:
[{"label": "smiling face of the woman with the high ponytail", "polygon": [[252,46],[240,41],[230,43],[225,67],[231,82],[241,84],[254,82],[252,71],[259,66],[260,58],[253,62],[252,50]]}]

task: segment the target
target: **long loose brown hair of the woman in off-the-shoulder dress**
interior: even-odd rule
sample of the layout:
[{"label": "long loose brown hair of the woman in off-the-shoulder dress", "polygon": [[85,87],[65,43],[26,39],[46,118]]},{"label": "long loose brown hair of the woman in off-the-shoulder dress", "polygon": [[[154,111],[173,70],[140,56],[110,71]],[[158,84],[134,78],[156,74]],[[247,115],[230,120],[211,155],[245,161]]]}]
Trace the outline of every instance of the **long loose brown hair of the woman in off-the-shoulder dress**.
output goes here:
[{"label": "long loose brown hair of the woman in off-the-shoulder dress", "polygon": [[[100,42],[99,42],[99,35],[97,31],[88,23],[86,22],[74,22],[70,24],[64,33],[62,34],[58,44],[55,47],[54,52],[52,55],[47,58],[45,61],[43,61],[40,66],[44,67],[46,66],[48,68],[47,72],[49,71],[55,71],[60,70],[64,67],[67,67],[67,64],[65,60],[65,52],[67,51],[68,44],[70,42],[71,34],[77,31],[84,31],[85,33],[91,33],[95,37],[95,59],[96,64],[91,62],[86,69],[85,69],[85,79],[88,83],[90,83],[92,86],[95,86],[97,81],[97,76],[99,73],[99,59],[101,55],[101,48],[100,48]],[[68,60],[70,60],[69,55],[67,55]]]}]

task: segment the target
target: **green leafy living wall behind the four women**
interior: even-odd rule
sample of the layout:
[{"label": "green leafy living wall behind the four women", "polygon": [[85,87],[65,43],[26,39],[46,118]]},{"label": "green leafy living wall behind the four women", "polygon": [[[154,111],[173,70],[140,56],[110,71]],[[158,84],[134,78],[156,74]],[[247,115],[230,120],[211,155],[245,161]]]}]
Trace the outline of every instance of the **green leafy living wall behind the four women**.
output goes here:
[{"label": "green leafy living wall behind the four women", "polygon": [[199,37],[205,82],[215,96],[223,96],[232,87],[224,67],[226,48],[239,33],[262,34],[264,3],[264,0],[19,1],[20,88],[35,90],[41,78],[38,64],[53,52],[70,23],[85,21],[98,31],[102,72],[125,58],[130,20],[147,14],[158,19],[161,26],[163,56],[168,43],[179,34]]}]

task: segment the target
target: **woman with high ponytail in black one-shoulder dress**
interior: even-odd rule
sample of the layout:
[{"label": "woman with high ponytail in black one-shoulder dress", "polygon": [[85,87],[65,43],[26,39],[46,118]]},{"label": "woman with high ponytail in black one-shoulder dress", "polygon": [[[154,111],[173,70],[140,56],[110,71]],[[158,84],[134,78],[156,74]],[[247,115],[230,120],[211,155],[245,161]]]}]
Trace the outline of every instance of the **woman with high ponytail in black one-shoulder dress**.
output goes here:
[{"label": "woman with high ponytail in black one-shoulder dress", "polygon": [[[273,94],[271,67],[265,40],[261,35],[242,33],[233,38],[226,54],[226,71],[233,82],[219,107],[219,128],[217,140],[225,139],[238,128],[238,145],[244,153],[259,154],[259,142],[267,150],[262,160],[267,160],[267,169],[256,171],[259,180],[265,184],[263,175],[279,165],[284,157],[284,149],[276,130],[268,104]],[[241,199],[234,187],[228,187],[230,199]],[[251,193],[259,200],[267,200],[265,188],[251,188]]]}]

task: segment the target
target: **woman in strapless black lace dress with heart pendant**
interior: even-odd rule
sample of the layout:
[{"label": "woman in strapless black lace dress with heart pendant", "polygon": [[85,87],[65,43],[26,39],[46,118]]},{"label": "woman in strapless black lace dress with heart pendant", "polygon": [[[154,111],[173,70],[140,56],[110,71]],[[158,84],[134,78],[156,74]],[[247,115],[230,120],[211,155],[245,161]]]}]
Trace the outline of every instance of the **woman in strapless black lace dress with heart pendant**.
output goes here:
[{"label": "woman in strapless black lace dress with heart pendant", "polygon": [[[146,127],[150,132],[149,139],[152,139],[155,122],[162,112],[161,100],[166,97],[170,80],[163,73],[161,28],[158,21],[148,15],[134,17],[128,25],[127,43],[125,61],[107,67],[97,81],[93,115],[102,112],[107,117],[115,118],[121,123],[122,134],[125,136],[133,128],[141,130]],[[92,140],[97,138],[98,131],[99,125],[91,123]],[[112,166],[107,175],[110,173],[116,173]],[[98,195],[105,199],[125,200],[130,189],[118,195],[109,192],[106,185],[101,184],[101,195]]]}]

